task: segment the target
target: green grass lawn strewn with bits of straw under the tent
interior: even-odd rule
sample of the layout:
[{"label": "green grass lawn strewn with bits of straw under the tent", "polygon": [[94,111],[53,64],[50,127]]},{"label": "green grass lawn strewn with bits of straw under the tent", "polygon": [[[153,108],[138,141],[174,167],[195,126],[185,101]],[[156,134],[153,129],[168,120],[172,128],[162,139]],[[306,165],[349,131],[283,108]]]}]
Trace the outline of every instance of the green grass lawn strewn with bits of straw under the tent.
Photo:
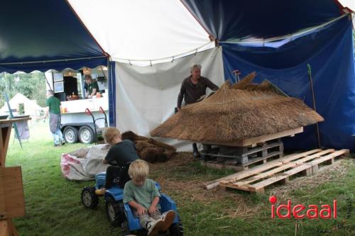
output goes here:
[{"label": "green grass lawn strewn with bits of straw under the tent", "polygon": [[[6,167],[21,166],[26,216],[13,219],[20,235],[120,235],[107,221],[104,201],[96,210],[80,202],[84,186],[94,181],[67,181],[60,172],[60,154],[82,144],[53,147],[48,124],[32,125],[23,150],[11,137]],[[177,203],[185,235],[355,235],[355,162],[342,159],[315,176],[299,177],[286,185],[268,188],[265,196],[241,191],[206,191],[202,183],[230,171],[201,167],[190,153],[179,153],[166,163],[151,164],[151,179]],[[278,203],[332,204],[338,200],[336,220],[271,219],[268,196]],[[349,202],[349,201],[348,201]]]}]

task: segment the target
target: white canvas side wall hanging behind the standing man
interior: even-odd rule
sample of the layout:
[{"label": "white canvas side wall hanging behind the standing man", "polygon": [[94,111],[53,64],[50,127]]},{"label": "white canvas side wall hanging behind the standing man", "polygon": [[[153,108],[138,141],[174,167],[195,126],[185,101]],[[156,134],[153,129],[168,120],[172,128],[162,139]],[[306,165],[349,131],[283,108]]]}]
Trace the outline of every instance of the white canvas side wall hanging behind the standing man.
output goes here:
[{"label": "white canvas side wall hanging behind the standing man", "polygon": [[[119,130],[149,136],[151,130],[172,116],[182,80],[190,76],[194,63],[202,65],[203,77],[218,86],[223,84],[222,47],[148,67],[116,62],[116,124]],[[170,140],[168,143],[179,150],[191,149],[191,145],[184,145],[186,142]]]}]

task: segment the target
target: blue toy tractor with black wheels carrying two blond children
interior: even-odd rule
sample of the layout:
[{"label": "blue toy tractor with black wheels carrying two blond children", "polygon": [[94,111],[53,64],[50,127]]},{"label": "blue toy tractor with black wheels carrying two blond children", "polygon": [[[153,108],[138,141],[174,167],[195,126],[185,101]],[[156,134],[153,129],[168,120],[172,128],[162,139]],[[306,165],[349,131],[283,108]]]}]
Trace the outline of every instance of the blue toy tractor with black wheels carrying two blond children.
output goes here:
[{"label": "blue toy tractor with black wheels carrying two blond children", "polygon": [[[99,196],[95,193],[96,189],[101,189],[105,185],[106,172],[99,173],[95,176],[96,185],[94,187],[84,187],[82,189],[82,204],[86,208],[95,208],[99,204]],[[160,191],[160,186],[157,183],[158,189]],[[138,235],[146,235],[146,230],[144,230],[141,225],[139,225],[139,220],[133,215],[133,211],[129,204],[123,203],[124,199],[124,189],[122,189],[117,180],[114,180],[114,184],[111,189],[107,189],[104,194],[104,200],[106,203],[106,213],[107,218],[111,225],[120,226],[122,235],[131,235],[136,231]],[[178,215],[178,210],[176,208],[175,202],[166,194],[160,193],[159,201],[161,212],[168,210],[174,210],[176,213],[175,220],[173,224],[169,227],[168,232],[161,232],[162,235],[170,236],[183,236],[183,227]]]}]

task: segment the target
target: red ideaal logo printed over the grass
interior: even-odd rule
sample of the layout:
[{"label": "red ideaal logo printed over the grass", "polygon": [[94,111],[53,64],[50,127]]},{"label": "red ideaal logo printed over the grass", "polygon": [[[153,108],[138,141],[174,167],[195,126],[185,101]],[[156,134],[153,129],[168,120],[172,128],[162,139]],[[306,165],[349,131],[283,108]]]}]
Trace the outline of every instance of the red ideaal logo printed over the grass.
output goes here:
[{"label": "red ideaal logo printed over the grass", "polygon": [[[288,200],[287,204],[280,204],[277,208],[275,207],[275,203],[278,201],[276,196],[271,196],[269,198],[271,203],[271,218],[275,218],[275,214],[280,219],[290,219],[291,214],[295,219],[302,219],[302,218],[322,218],[322,219],[330,219],[330,218],[337,218],[337,200],[333,200],[332,205],[322,205],[320,208],[317,205],[309,205],[306,207],[302,204],[297,204],[292,206],[291,200]],[[284,214],[282,214],[284,213]]]}]

